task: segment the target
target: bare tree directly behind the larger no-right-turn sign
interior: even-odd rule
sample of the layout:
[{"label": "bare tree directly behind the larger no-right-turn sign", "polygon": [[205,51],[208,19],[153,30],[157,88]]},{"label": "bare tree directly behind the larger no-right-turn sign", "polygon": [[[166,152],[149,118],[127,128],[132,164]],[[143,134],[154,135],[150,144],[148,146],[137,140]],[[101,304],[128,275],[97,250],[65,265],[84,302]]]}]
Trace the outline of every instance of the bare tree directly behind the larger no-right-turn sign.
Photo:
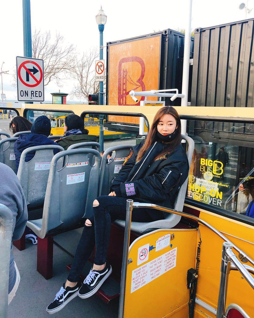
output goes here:
[{"label": "bare tree directly behind the larger no-right-turn sign", "polygon": [[32,36],[32,57],[44,61],[44,86],[53,79],[58,86],[61,85],[62,75],[73,67],[75,61],[75,47],[73,44],[63,46],[64,38],[56,33],[51,41],[51,33],[35,30]]}]

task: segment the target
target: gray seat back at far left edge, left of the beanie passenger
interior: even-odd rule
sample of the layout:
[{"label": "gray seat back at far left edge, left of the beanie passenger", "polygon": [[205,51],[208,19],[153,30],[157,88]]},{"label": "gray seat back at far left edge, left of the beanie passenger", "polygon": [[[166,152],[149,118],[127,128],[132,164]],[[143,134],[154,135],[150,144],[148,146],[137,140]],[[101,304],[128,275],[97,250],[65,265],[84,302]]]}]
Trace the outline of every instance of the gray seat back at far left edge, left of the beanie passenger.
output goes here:
[{"label": "gray seat back at far left edge, left of the beanie passenger", "polygon": [[14,154],[14,143],[17,139],[17,137],[14,137],[0,140],[0,162],[6,164],[15,173],[17,173],[15,156],[11,154]]}]

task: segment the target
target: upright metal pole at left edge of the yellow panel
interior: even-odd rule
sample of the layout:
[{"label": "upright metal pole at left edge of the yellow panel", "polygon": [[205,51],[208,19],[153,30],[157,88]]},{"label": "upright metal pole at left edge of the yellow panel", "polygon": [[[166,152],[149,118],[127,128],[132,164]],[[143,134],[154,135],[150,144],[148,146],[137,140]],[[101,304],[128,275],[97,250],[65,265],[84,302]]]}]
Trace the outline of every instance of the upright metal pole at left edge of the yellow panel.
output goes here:
[{"label": "upright metal pole at left edge of the yellow panel", "polygon": [[122,261],[118,318],[123,318],[123,315],[124,315],[125,286],[126,286],[126,276],[127,276],[129,245],[130,245],[132,209],[133,209],[133,200],[128,199],[126,202],[126,218],[125,218],[125,230],[124,230],[124,242],[123,242],[123,261]]}]

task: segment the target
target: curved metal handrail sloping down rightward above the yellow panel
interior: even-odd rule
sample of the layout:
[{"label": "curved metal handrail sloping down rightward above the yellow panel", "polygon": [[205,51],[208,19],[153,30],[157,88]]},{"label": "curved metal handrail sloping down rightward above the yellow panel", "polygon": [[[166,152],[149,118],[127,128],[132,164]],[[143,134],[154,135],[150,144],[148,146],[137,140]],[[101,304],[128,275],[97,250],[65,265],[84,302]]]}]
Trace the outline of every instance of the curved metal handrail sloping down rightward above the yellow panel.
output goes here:
[{"label": "curved metal handrail sloping down rightward above the yellow panel", "polygon": [[177,214],[180,215],[182,217],[185,218],[190,218],[194,221],[199,222],[202,225],[205,225],[206,227],[208,227],[212,232],[214,232],[215,234],[217,234],[221,239],[223,239],[224,241],[232,244],[232,247],[245,259],[247,259],[247,261],[249,261],[252,265],[254,265],[254,260],[251,259],[246,253],[244,253],[242,250],[239,249],[239,247],[237,247],[235,244],[233,244],[229,239],[227,239],[221,232],[219,232],[218,230],[216,230],[214,227],[212,227],[212,225],[206,223],[205,221],[201,220],[200,218],[196,217],[195,215],[192,214],[188,214],[185,212],[180,212],[180,211],[176,211],[173,209],[169,209],[169,208],[165,208],[164,206],[160,206],[157,204],[152,204],[152,203],[139,203],[139,202],[134,202],[133,203],[133,208],[151,208],[151,209],[155,209],[155,210],[160,210],[160,211],[165,211],[168,213],[173,213],[173,214]]}]

